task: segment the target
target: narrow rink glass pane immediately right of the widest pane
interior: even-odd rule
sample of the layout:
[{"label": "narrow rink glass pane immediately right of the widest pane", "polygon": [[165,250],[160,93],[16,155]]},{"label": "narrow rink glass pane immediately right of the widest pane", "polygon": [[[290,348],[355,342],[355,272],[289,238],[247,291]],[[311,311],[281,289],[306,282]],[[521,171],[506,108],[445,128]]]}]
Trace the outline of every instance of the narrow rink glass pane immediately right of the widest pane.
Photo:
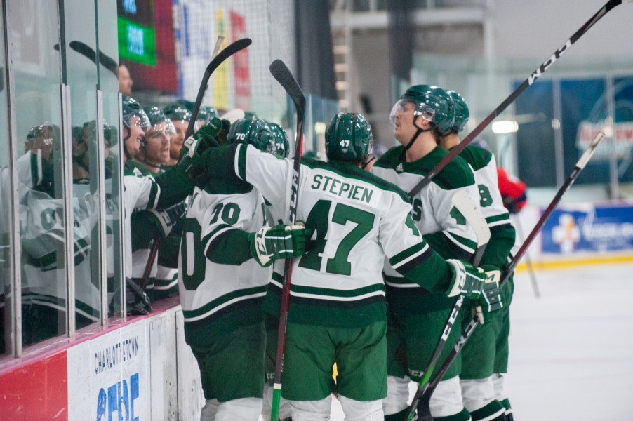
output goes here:
[{"label": "narrow rink glass pane immediately right of the widest pane", "polygon": [[[74,324],[76,329],[81,329],[100,319],[100,230],[96,222],[101,215],[97,148],[101,147],[107,154],[109,145],[98,145],[97,64],[76,50],[77,45],[82,45],[86,51],[88,48],[97,51],[95,4],[65,0],[62,7],[60,13],[67,22],[63,28],[62,74],[70,87],[74,240],[76,253],[79,253],[74,265]],[[79,251],[84,244],[89,248]]]}]

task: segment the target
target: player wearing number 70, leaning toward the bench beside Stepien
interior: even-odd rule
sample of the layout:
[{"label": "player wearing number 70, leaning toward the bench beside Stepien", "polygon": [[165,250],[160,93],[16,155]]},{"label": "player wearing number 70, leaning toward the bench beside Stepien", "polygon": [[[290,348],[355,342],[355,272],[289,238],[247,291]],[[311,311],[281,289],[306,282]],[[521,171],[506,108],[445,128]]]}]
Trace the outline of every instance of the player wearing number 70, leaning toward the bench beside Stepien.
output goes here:
[{"label": "player wearing number 70, leaning toward the bench beside Stepien", "polygon": [[[276,152],[263,120],[236,121],[229,142]],[[201,421],[258,420],[264,387],[262,302],[272,260],[303,253],[309,230],[293,228],[268,227],[262,194],[244,181],[211,180],[194,190],[178,283],[185,340],[198,361],[206,399]]]}]

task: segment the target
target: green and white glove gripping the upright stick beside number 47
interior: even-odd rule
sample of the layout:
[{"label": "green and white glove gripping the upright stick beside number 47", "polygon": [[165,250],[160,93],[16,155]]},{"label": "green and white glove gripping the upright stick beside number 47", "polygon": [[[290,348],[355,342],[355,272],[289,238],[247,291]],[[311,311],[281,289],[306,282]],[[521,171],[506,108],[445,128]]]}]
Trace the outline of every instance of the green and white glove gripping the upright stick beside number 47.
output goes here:
[{"label": "green and white glove gripping the upright stick beside number 47", "polygon": [[263,227],[248,236],[251,240],[251,255],[260,265],[272,265],[277,259],[298,258],[305,251],[305,240],[312,229],[302,225]]}]

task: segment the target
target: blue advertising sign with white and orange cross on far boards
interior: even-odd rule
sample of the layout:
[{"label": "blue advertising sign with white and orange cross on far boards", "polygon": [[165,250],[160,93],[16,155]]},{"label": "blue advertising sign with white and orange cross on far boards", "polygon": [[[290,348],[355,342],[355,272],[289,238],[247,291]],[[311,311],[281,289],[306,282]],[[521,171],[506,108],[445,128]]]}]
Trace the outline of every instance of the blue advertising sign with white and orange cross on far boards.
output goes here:
[{"label": "blue advertising sign with white and orange cross on far boards", "polygon": [[633,249],[633,204],[556,209],[543,225],[543,253],[630,249]]}]

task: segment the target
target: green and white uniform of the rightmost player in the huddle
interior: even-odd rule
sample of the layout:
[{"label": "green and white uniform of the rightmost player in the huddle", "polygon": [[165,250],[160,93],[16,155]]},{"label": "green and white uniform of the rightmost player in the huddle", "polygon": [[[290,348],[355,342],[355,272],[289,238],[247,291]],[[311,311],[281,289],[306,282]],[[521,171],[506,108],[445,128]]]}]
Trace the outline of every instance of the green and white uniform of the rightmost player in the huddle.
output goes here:
[{"label": "green and white uniform of the rightmost player in the huddle", "polygon": [[[493,265],[504,269],[509,262],[516,233],[499,192],[495,156],[486,149],[473,145],[465,147],[460,156],[474,171],[479,189],[479,206],[491,232],[490,241],[481,258],[481,265]],[[495,400],[492,376],[493,373],[505,373],[507,370],[509,303],[512,300],[512,289],[513,283],[510,279],[503,288],[506,306],[493,313],[490,322],[474,330],[461,352],[462,397],[473,420],[494,419],[505,412],[502,404]],[[469,314],[470,308],[470,305],[465,306],[465,314]],[[498,371],[498,368],[502,371]]]}]

